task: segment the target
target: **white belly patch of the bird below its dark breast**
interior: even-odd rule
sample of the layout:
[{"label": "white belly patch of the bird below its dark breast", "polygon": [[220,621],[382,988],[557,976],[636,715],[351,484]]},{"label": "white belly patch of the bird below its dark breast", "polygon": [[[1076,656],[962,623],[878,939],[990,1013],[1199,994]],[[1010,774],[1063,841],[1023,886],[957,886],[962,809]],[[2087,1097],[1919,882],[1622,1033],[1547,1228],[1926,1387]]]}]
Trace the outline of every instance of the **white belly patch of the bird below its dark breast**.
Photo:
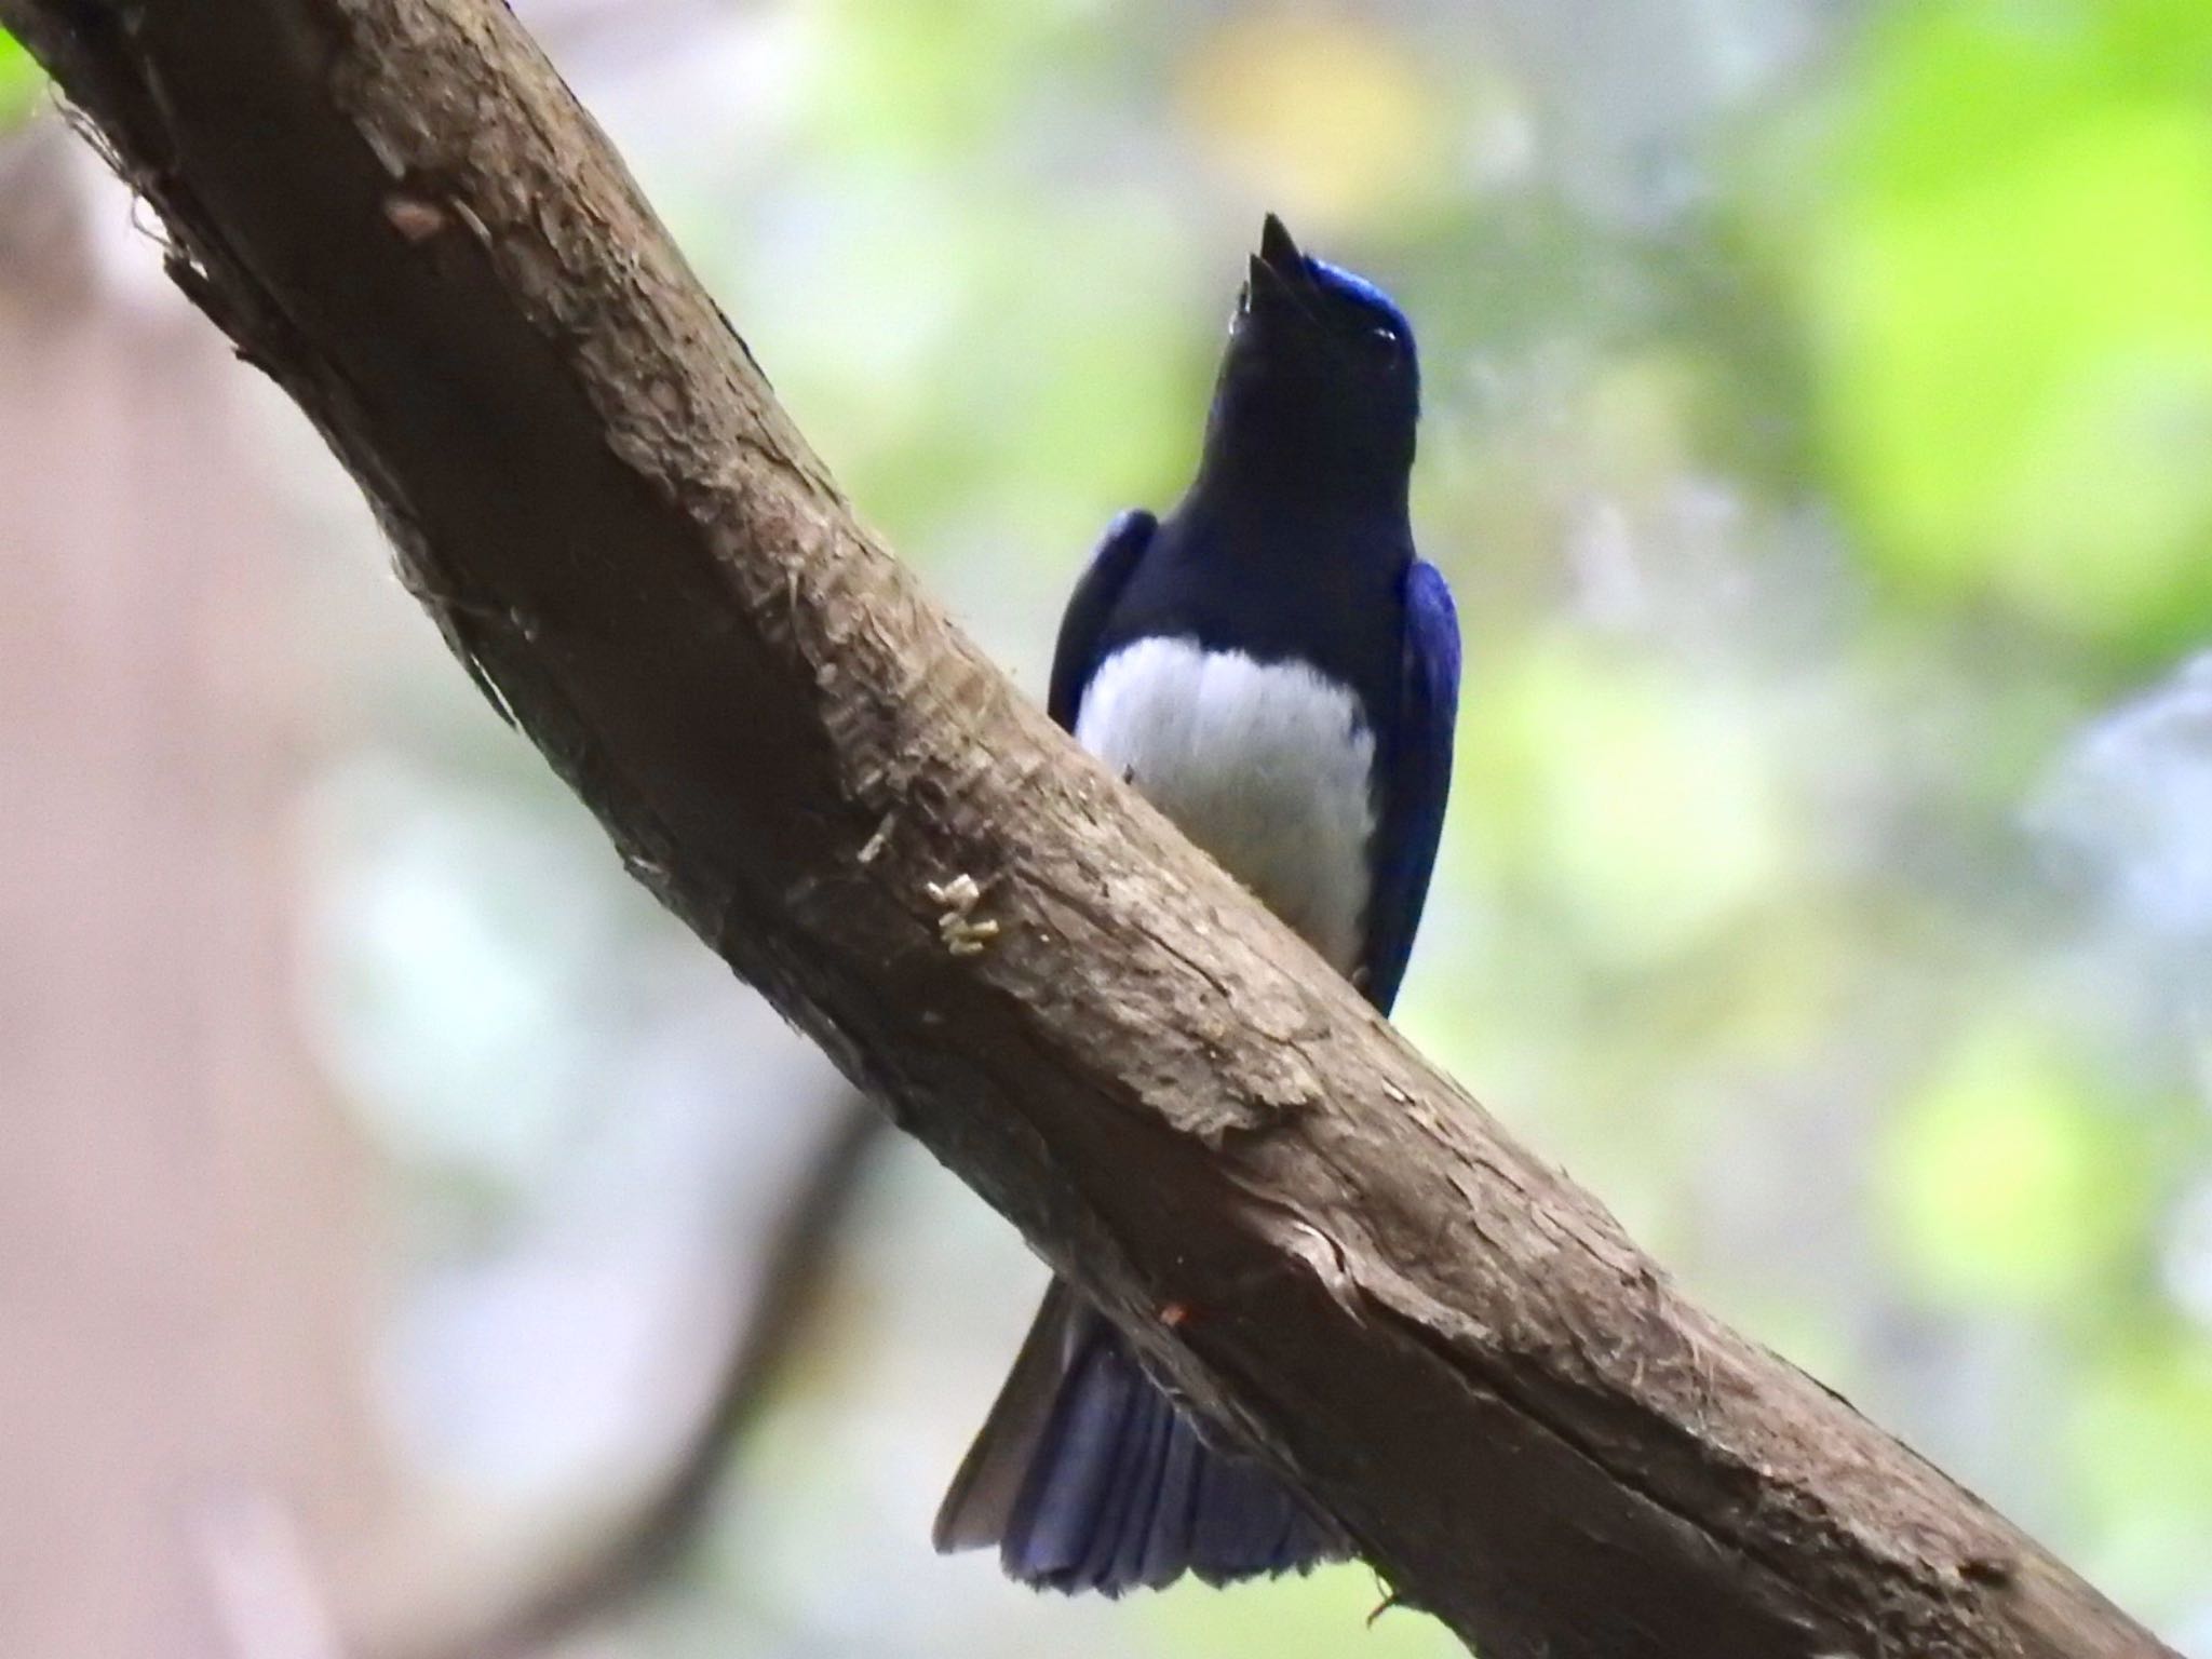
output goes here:
[{"label": "white belly patch of the bird below its dark breast", "polygon": [[1093,675],[1075,737],[1352,971],[1376,745],[1349,688],[1305,664],[1139,639]]}]

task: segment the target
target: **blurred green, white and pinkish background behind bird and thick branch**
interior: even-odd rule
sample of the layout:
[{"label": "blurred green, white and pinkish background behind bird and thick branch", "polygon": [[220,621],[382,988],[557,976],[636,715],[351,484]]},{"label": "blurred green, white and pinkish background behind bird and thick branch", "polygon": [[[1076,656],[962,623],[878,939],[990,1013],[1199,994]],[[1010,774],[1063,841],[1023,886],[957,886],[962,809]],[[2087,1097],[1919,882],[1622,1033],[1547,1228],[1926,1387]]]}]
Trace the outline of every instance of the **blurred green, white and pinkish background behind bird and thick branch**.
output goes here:
[{"label": "blurred green, white and pinkish background behind bird and thick branch", "polygon": [[[518,9],[1033,690],[1261,210],[1389,285],[1471,646],[1400,1022],[2212,1655],[2212,7]],[[849,1157],[7,42],[0,128],[0,1648],[1451,1652],[929,1553],[1042,1270]]]}]

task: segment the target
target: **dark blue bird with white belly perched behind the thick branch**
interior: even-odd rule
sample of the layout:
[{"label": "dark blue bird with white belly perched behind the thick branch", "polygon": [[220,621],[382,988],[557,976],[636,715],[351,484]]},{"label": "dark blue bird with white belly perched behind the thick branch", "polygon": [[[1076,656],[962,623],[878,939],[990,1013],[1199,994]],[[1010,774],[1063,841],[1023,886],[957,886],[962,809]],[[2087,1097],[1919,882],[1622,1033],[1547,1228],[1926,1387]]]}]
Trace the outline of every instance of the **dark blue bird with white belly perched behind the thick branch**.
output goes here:
[{"label": "dark blue bird with white belly perched behind the thick branch", "polygon": [[[1199,473],[1168,518],[1106,531],[1048,692],[1055,721],[1385,1013],[1436,865],[1460,688],[1451,591],[1407,518],[1418,416],[1405,314],[1267,215]],[[936,1544],[1106,1595],[1347,1553],[1057,1281]]]}]

